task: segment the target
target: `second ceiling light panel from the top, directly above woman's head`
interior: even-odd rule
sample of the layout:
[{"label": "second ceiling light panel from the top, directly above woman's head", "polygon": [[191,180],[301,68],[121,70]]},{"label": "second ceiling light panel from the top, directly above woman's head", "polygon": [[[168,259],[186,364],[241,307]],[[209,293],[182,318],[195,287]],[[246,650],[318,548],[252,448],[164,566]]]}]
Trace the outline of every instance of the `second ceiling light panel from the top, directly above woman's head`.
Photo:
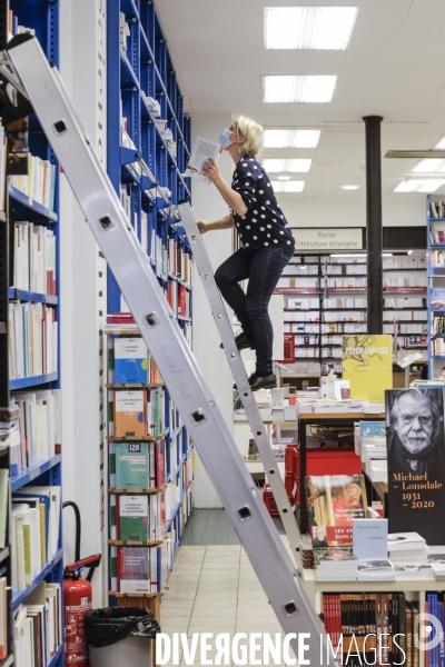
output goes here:
[{"label": "second ceiling light panel from the top, directly above woman's head", "polygon": [[267,76],[264,80],[264,101],[278,102],[330,102],[337,77],[329,76]]}]

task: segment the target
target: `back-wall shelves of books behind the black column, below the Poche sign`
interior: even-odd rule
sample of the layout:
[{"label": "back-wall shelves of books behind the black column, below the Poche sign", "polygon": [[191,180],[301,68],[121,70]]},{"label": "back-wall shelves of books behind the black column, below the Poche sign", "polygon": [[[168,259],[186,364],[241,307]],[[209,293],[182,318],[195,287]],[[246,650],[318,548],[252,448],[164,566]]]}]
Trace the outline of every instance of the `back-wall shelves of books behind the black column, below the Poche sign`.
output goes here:
[{"label": "back-wall shelves of books behind the black column, below the Poche sign", "polygon": [[[400,348],[426,351],[424,253],[394,253],[383,267],[383,332]],[[366,256],[296,255],[276,293],[285,296],[285,334],[295,336],[295,360],[314,359],[342,372],[342,336],[366,334]]]}]

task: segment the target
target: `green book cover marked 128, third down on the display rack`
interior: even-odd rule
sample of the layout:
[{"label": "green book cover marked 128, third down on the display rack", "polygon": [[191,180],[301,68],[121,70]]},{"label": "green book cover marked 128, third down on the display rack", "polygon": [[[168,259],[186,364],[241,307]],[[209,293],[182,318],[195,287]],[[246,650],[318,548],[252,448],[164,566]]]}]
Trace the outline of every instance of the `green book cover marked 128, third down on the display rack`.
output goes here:
[{"label": "green book cover marked 128, third down on the display rack", "polygon": [[116,488],[149,488],[148,442],[116,442]]}]

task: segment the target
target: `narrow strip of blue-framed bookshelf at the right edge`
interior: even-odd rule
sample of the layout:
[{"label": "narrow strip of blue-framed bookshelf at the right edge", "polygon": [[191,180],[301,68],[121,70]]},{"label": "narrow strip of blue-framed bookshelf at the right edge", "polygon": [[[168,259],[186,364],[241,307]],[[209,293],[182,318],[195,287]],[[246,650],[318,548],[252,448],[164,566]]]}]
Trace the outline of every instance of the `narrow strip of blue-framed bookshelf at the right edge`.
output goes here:
[{"label": "narrow strip of blue-framed bookshelf at the right edge", "polygon": [[428,378],[445,368],[445,207],[438,197],[426,199],[428,270]]}]

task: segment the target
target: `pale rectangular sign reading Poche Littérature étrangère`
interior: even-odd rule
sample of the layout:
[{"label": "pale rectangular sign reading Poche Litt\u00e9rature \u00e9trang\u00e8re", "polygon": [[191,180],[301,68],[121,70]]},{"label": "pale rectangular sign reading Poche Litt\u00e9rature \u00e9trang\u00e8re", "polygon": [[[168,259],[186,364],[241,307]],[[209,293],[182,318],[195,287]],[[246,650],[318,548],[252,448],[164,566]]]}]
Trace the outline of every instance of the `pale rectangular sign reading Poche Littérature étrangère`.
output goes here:
[{"label": "pale rectangular sign reading Poche Litt\u00e9rature \u00e9trang\u00e8re", "polygon": [[363,250],[362,227],[293,229],[296,250]]}]

